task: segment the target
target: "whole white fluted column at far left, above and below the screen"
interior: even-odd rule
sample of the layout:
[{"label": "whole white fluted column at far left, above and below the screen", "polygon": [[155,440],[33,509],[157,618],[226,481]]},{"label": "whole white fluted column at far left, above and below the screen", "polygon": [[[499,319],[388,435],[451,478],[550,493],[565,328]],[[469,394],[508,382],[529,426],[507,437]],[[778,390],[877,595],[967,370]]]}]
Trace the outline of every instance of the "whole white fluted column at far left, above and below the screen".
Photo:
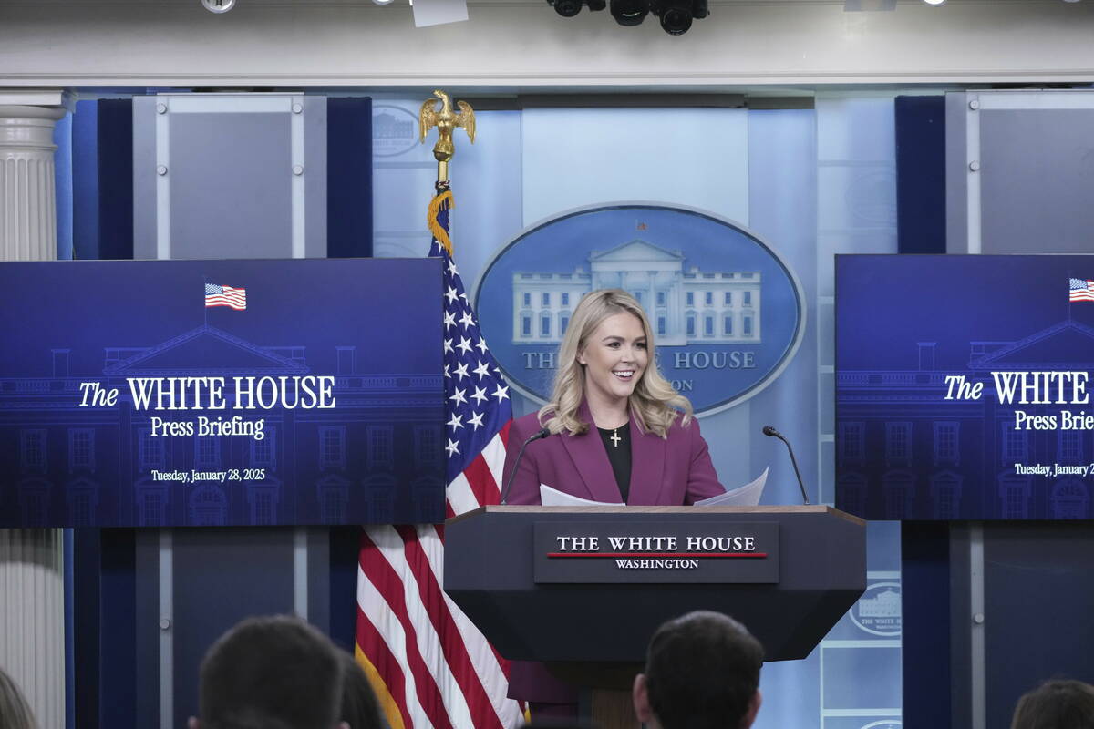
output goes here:
[{"label": "whole white fluted column at far left, above and below the screen", "polygon": [[[0,91],[0,260],[56,260],[54,126],[65,109],[13,96],[34,92]],[[65,727],[63,553],[60,529],[0,529],[0,666],[40,729]]]}]

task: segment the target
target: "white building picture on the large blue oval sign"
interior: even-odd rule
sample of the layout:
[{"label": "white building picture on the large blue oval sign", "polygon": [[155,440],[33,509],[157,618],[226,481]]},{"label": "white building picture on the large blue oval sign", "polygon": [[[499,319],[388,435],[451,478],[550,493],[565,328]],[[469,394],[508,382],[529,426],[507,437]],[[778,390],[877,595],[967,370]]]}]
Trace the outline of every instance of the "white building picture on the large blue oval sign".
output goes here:
[{"label": "white building picture on the large blue oval sign", "polygon": [[758,271],[685,271],[685,256],[636,238],[589,255],[572,273],[513,273],[513,343],[557,344],[578,302],[622,289],[645,309],[657,344],[760,342]]}]

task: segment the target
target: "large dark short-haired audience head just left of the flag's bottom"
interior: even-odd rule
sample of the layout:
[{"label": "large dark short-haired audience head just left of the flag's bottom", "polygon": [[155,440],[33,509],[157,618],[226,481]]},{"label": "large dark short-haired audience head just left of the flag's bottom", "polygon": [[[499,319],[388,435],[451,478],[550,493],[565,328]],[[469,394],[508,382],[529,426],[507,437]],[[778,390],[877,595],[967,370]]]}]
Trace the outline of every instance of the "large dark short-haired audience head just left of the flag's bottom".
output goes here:
[{"label": "large dark short-haired audience head just left of the flag's bottom", "polygon": [[302,620],[248,618],[201,661],[201,718],[191,729],[334,729],[342,666],[335,646]]}]

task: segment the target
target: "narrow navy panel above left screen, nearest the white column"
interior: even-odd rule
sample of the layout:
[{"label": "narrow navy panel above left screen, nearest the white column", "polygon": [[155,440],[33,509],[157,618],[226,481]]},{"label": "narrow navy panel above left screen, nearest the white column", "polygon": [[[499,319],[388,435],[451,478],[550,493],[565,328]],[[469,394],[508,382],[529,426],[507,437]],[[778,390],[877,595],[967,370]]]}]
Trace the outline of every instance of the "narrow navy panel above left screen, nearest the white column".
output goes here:
[{"label": "narrow navy panel above left screen, nearest the white column", "polygon": [[98,102],[98,250],[88,258],[133,257],[133,118],[128,98]]}]

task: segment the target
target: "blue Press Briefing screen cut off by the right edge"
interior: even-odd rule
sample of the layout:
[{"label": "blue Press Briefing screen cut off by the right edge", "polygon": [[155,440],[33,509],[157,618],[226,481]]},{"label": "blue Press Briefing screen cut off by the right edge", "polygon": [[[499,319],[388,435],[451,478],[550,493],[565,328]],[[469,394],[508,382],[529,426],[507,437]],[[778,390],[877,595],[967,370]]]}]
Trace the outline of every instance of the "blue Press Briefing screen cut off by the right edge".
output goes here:
[{"label": "blue Press Briefing screen cut off by the right edge", "polygon": [[836,506],[1087,519],[1094,257],[839,256]]}]

